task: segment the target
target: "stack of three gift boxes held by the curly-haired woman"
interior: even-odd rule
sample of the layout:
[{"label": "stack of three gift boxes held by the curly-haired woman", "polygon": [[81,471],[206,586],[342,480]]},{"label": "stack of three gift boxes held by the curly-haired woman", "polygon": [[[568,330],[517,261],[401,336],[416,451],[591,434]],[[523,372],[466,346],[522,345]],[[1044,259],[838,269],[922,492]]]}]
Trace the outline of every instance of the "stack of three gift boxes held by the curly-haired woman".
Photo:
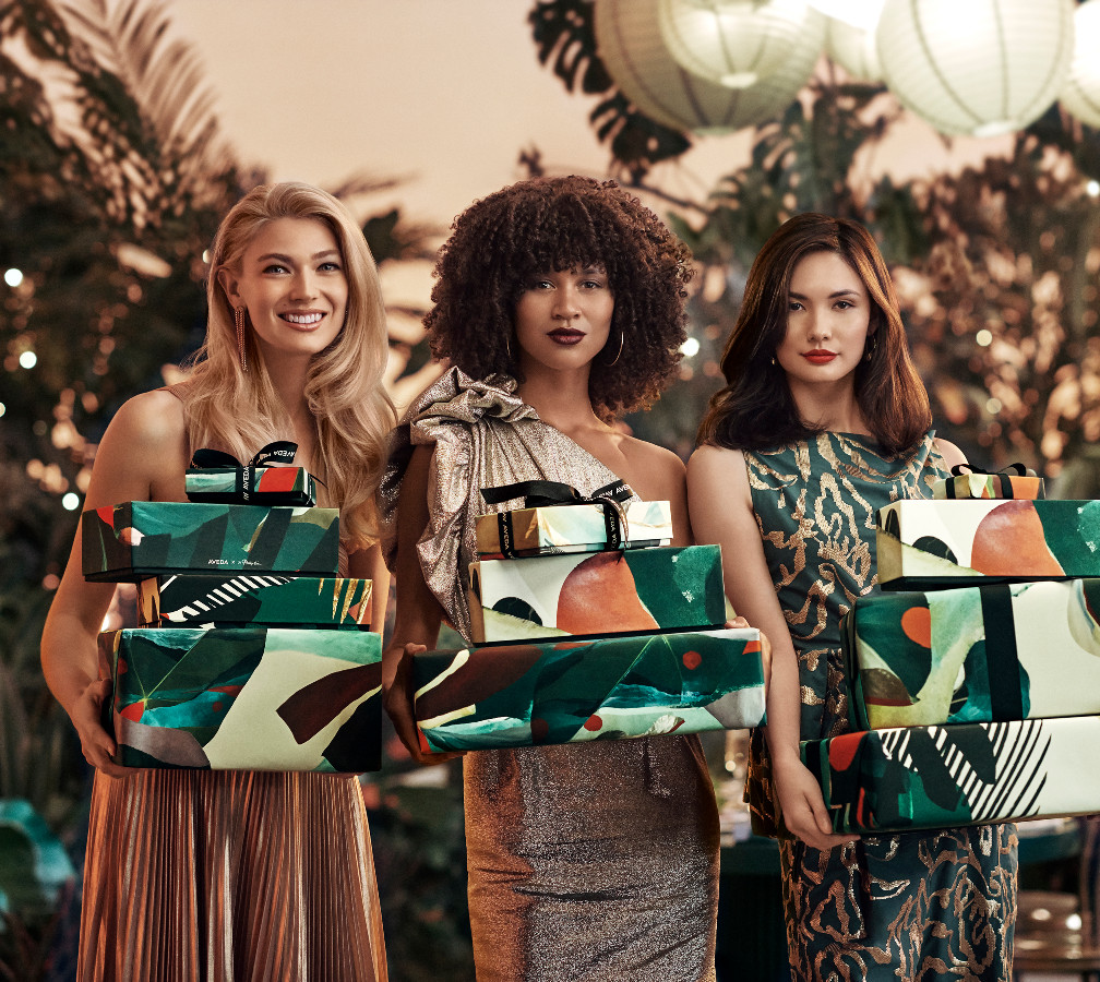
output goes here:
[{"label": "stack of three gift boxes held by the curly-haired woman", "polygon": [[718,547],[670,545],[668,501],[622,504],[622,483],[587,500],[548,482],[483,494],[526,507],[477,522],[475,643],[414,659],[426,751],[762,721],[759,633],[724,627]]}]

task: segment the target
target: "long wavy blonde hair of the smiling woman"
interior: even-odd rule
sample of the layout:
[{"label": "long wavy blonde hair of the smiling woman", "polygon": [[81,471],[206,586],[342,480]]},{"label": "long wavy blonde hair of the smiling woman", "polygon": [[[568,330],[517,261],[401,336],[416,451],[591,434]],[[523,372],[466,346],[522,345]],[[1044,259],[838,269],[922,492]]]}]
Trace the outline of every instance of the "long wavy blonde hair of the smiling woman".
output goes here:
[{"label": "long wavy blonde hair of the smiling woman", "polygon": [[206,341],[191,360],[193,373],[175,391],[184,401],[191,448],[215,446],[248,461],[272,440],[294,438],[251,330],[245,331],[249,367],[241,369],[233,307],[219,282],[223,269],[241,272],[249,243],[266,222],[280,218],[323,222],[343,260],[343,328],[311,358],[305,395],[317,423],[312,471],[324,484],[322,500],[339,506],[349,549],[363,549],[376,538],[374,490],[396,416],[382,386],[388,344],[378,271],[362,230],[337,198],[289,181],[253,188],[230,209],[210,249]]}]

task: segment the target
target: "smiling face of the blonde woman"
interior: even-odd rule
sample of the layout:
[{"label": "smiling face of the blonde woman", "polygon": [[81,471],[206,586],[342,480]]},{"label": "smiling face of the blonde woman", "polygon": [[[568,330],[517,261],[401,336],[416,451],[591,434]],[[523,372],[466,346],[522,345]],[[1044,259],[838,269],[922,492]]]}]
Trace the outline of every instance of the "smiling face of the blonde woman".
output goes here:
[{"label": "smiling face of the blonde woman", "polygon": [[249,243],[238,271],[223,269],[222,287],[249,313],[265,358],[309,358],[340,333],[348,278],[336,236],[318,219],[280,218]]}]

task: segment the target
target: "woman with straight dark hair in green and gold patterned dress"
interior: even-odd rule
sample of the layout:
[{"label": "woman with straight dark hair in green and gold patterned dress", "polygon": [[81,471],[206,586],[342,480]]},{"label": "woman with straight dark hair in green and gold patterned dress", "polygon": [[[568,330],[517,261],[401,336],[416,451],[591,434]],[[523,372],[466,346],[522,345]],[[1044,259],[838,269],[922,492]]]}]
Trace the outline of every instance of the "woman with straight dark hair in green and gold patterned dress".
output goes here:
[{"label": "woman with straight dark hair in green and gold patterned dress", "polygon": [[794,978],[1008,979],[1014,827],[836,836],[799,759],[800,738],[848,729],[839,621],[876,587],[876,510],[931,497],[964,461],[930,429],[868,232],[821,214],[784,223],[752,265],[722,369],[689,503],[700,541],[723,547],[734,609],[774,646],[749,797],[755,820],[783,832]]}]

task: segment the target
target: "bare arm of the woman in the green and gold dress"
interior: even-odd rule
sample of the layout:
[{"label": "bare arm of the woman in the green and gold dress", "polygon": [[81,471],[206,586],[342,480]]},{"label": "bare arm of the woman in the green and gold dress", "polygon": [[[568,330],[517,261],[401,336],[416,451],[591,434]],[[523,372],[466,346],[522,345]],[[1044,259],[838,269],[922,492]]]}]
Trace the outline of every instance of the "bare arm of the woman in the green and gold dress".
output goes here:
[{"label": "bare arm of the woman in the green and gold dress", "polygon": [[697,540],[722,547],[726,596],[734,610],[771,639],[768,749],[787,828],[816,849],[850,841],[853,836],[833,834],[821,787],[799,757],[798,655],[765,559],[744,454],[716,446],[696,450],[688,463],[688,506]]}]

